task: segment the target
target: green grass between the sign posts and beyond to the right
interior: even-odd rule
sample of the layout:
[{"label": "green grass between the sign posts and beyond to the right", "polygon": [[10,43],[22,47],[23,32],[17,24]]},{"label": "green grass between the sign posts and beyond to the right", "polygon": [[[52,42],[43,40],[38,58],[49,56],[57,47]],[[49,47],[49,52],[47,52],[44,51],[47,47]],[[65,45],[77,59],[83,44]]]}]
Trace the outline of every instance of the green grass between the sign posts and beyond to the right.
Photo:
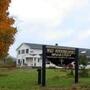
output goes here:
[{"label": "green grass between the sign posts and beyond to the right", "polygon": [[[75,77],[67,75],[69,71],[62,70],[47,70],[47,85],[57,87],[70,87],[74,85]],[[79,77],[79,85],[90,86],[90,72],[89,77]]]}]

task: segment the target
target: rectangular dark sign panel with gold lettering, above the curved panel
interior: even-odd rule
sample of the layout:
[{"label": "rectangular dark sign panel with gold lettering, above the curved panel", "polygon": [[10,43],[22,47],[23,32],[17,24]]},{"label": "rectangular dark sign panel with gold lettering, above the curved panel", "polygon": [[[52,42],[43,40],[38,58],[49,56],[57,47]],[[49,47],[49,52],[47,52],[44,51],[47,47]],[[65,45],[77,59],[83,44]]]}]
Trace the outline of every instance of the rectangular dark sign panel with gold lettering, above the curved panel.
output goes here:
[{"label": "rectangular dark sign panel with gold lettering, above the curved panel", "polygon": [[75,59],[75,49],[56,47],[56,46],[46,46],[46,57],[47,58],[61,58],[61,59]]}]

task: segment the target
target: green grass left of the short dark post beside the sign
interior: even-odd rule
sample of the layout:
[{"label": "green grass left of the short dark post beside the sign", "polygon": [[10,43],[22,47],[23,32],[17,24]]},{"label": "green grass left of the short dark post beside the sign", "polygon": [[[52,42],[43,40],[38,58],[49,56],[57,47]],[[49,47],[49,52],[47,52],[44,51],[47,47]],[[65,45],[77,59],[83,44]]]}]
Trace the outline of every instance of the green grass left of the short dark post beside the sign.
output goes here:
[{"label": "green grass left of the short dark post beside the sign", "polygon": [[36,70],[3,71],[0,75],[0,88],[2,90],[30,90],[33,86],[37,87],[36,80]]}]

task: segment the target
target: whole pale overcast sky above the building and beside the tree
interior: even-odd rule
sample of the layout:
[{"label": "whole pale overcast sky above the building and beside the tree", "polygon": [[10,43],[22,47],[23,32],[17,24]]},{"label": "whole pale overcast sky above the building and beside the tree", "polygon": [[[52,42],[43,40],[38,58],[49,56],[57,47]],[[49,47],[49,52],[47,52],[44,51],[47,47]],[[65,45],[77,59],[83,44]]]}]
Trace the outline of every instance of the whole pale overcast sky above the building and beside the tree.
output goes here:
[{"label": "whole pale overcast sky above the building and beside the tree", "polygon": [[90,48],[90,0],[12,0],[18,33],[9,53],[23,42]]}]

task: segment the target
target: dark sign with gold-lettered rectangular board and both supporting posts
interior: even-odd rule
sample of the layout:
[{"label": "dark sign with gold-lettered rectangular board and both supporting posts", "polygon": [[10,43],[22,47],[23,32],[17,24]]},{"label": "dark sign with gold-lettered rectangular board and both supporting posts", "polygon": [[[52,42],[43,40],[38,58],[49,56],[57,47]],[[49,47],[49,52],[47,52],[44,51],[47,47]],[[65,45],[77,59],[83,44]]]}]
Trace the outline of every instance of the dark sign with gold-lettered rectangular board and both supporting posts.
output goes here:
[{"label": "dark sign with gold-lettered rectangular board and both supporting posts", "polygon": [[56,58],[75,61],[75,83],[78,83],[78,48],[43,45],[41,85],[46,85],[46,60]]}]

